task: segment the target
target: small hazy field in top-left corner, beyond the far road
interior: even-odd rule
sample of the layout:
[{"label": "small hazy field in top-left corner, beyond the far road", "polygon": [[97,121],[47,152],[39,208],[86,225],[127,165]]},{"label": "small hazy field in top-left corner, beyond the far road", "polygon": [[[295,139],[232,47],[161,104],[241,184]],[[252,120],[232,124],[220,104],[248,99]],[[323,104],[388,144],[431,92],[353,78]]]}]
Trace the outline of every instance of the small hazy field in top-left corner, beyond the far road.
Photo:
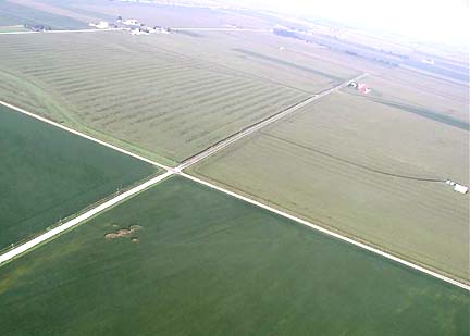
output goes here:
[{"label": "small hazy field in top-left corner, beyond the far road", "polygon": [[0,0],[0,26],[44,25],[53,29],[82,29],[88,25],[72,17],[53,14],[26,5]]}]

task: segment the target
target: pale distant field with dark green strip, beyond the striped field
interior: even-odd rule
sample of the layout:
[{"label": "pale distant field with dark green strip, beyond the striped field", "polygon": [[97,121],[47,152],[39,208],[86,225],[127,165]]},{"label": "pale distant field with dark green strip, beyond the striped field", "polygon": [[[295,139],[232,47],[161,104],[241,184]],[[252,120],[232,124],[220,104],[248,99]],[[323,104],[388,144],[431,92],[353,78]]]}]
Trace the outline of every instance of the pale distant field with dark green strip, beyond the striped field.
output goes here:
[{"label": "pale distant field with dark green strip, beyond the striped field", "polygon": [[[298,51],[316,53],[317,49],[269,32],[191,33],[197,33],[199,37],[172,36],[160,39],[159,46],[225,69],[256,74],[258,77],[307,92],[322,91],[361,74],[349,66],[331,62],[335,59],[333,53],[329,54],[330,59],[306,57]],[[175,35],[181,33],[176,32]],[[151,40],[144,39],[143,42]]]}]

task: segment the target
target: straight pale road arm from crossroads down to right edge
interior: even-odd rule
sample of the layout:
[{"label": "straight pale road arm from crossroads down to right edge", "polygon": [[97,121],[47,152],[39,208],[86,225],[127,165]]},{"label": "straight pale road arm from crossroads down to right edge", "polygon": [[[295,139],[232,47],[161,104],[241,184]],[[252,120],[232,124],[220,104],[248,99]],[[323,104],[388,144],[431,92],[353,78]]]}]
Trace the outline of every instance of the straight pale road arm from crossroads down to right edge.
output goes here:
[{"label": "straight pale road arm from crossroads down to right edge", "polygon": [[398,257],[393,256],[393,254],[391,254],[391,253],[384,252],[384,251],[382,251],[382,250],[380,250],[380,249],[376,249],[376,248],[374,248],[374,247],[371,247],[371,246],[369,246],[369,245],[367,245],[367,244],[363,244],[363,242],[357,241],[357,240],[355,240],[355,239],[352,239],[352,238],[349,238],[349,237],[343,236],[343,235],[341,235],[341,234],[338,234],[338,233],[335,233],[335,232],[330,231],[330,229],[327,229],[327,228],[324,228],[324,227],[322,227],[322,226],[316,225],[316,224],[310,223],[310,222],[308,222],[308,221],[306,221],[306,220],[302,220],[302,219],[300,219],[300,217],[297,217],[297,216],[292,215],[292,214],[289,214],[289,213],[286,213],[286,212],[284,212],[284,211],[277,210],[277,209],[275,209],[275,208],[273,208],[273,207],[270,207],[270,206],[268,206],[268,204],[264,204],[264,203],[262,203],[262,202],[259,202],[259,201],[253,200],[253,199],[251,199],[251,198],[248,198],[248,197],[246,197],[246,196],[243,196],[243,195],[239,195],[239,194],[237,194],[237,192],[234,192],[234,191],[227,190],[227,189],[225,189],[225,188],[219,187],[219,186],[217,186],[217,185],[214,185],[214,184],[211,184],[211,183],[209,183],[209,182],[207,182],[207,181],[200,179],[200,178],[198,178],[198,177],[195,177],[195,176],[193,176],[193,175],[189,175],[189,174],[186,174],[186,173],[183,173],[183,172],[178,173],[178,175],[184,176],[184,177],[186,177],[186,178],[188,178],[188,179],[190,179],[190,181],[194,181],[194,182],[196,182],[196,183],[202,184],[202,185],[205,185],[205,186],[207,186],[207,187],[209,187],[209,188],[212,188],[212,189],[219,190],[219,191],[221,191],[221,192],[227,194],[227,195],[230,195],[230,196],[232,196],[232,197],[235,197],[235,198],[237,198],[237,199],[240,199],[240,200],[243,200],[243,201],[246,201],[246,202],[248,202],[248,203],[251,203],[251,204],[253,204],[253,206],[257,206],[257,207],[259,207],[259,208],[262,208],[262,209],[268,210],[268,211],[270,211],[270,212],[273,212],[273,213],[275,213],[275,214],[279,214],[279,215],[281,215],[281,216],[283,216],[283,217],[286,217],[286,219],[288,219],[288,220],[292,220],[292,221],[295,221],[295,222],[300,223],[300,224],[302,224],[302,225],[306,225],[306,226],[308,226],[308,227],[310,227],[310,228],[313,228],[313,229],[316,229],[316,231],[318,231],[318,232],[321,232],[321,233],[323,233],[323,234],[326,234],[326,235],[332,236],[332,237],[334,237],[334,238],[337,238],[337,239],[339,239],[339,240],[343,240],[343,241],[349,242],[349,244],[351,244],[351,245],[355,245],[355,246],[357,246],[357,247],[360,247],[360,248],[362,248],[362,249],[364,249],[364,250],[368,250],[368,251],[370,251],[370,252],[373,252],[373,253],[375,253],[375,254],[379,254],[379,256],[381,256],[381,257],[384,257],[384,258],[386,258],[386,259],[389,259],[389,260],[392,260],[392,261],[395,261],[395,262],[397,262],[397,263],[400,263],[400,264],[403,264],[403,265],[405,265],[405,266],[408,266],[408,267],[410,267],[410,269],[413,269],[413,270],[416,270],[416,271],[419,271],[419,272],[425,273],[425,274],[428,274],[428,275],[431,275],[431,276],[433,276],[433,277],[440,278],[440,279],[442,279],[442,281],[444,281],[444,282],[446,282],[446,283],[449,283],[449,284],[452,284],[452,285],[458,286],[458,287],[460,287],[460,288],[462,288],[462,289],[470,290],[470,285],[466,285],[466,284],[460,283],[460,282],[458,282],[458,281],[456,281],[456,279],[453,279],[453,278],[450,278],[450,277],[447,277],[447,276],[445,276],[445,275],[442,275],[442,274],[440,274],[440,273],[437,273],[437,272],[434,272],[434,271],[428,270],[428,269],[425,269],[425,267],[423,267],[423,266],[420,266],[420,265],[418,265],[418,264],[415,264],[415,263],[412,263],[412,262],[410,262],[410,261],[407,261],[407,260],[405,260],[405,259],[398,258]]}]

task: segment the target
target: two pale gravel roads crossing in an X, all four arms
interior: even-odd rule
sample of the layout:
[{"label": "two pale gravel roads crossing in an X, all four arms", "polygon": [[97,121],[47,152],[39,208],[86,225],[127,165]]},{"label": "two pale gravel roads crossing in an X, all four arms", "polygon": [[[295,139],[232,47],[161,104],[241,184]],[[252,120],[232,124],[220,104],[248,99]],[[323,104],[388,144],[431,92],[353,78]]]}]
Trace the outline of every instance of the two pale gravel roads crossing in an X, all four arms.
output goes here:
[{"label": "two pale gravel roads crossing in an X, all four arms", "polygon": [[[367,76],[367,74],[362,74],[362,75],[360,75],[360,76],[358,76],[356,78],[352,78],[351,80],[358,80],[358,79],[360,79],[360,78],[362,78],[364,76]],[[255,204],[257,207],[263,208],[263,209],[265,209],[268,211],[271,211],[271,212],[276,213],[279,215],[282,215],[284,217],[290,219],[290,220],[293,220],[293,221],[295,221],[297,223],[300,223],[302,225],[309,226],[309,227],[311,227],[311,228],[313,228],[316,231],[319,231],[319,232],[321,232],[323,234],[326,234],[326,235],[330,235],[330,236],[335,237],[337,239],[341,239],[343,241],[352,244],[352,245],[355,245],[357,247],[360,247],[362,249],[369,250],[369,251],[371,251],[373,253],[376,253],[379,256],[387,258],[387,259],[389,259],[392,261],[398,262],[398,263],[400,263],[403,265],[406,265],[406,266],[411,267],[413,270],[417,270],[419,272],[422,272],[422,273],[425,273],[428,275],[434,276],[436,278],[440,278],[440,279],[442,279],[444,282],[447,282],[447,283],[453,284],[455,286],[458,286],[460,288],[470,290],[470,286],[468,286],[467,284],[460,283],[460,282],[458,282],[456,279],[453,279],[450,277],[447,277],[447,276],[444,276],[442,274],[438,274],[437,272],[428,270],[428,269],[425,269],[425,267],[423,267],[421,265],[418,265],[418,264],[415,264],[412,262],[406,261],[406,260],[404,260],[401,258],[395,257],[393,254],[389,254],[389,253],[384,252],[384,251],[382,251],[380,249],[376,249],[376,248],[373,248],[371,246],[368,246],[368,245],[366,245],[363,242],[360,242],[358,240],[355,240],[355,239],[351,239],[349,237],[339,235],[339,234],[337,234],[335,232],[329,231],[329,229],[326,229],[324,227],[318,226],[316,224],[312,224],[312,223],[307,222],[305,220],[301,220],[299,217],[293,216],[293,215],[290,215],[288,213],[285,213],[283,211],[280,211],[280,210],[276,210],[274,208],[271,208],[271,207],[269,207],[267,204],[263,204],[261,202],[258,202],[258,201],[252,200],[250,198],[244,197],[244,196],[238,195],[236,192],[226,190],[224,188],[218,187],[218,186],[212,185],[212,184],[210,184],[208,182],[201,181],[201,179],[199,179],[197,177],[194,177],[191,175],[188,175],[188,174],[182,172],[184,169],[187,169],[187,167],[189,167],[189,166],[191,166],[191,165],[194,165],[194,164],[196,164],[196,163],[198,163],[198,162],[200,162],[200,161],[209,158],[210,155],[212,155],[212,154],[221,151],[225,147],[234,144],[235,141],[237,141],[237,140],[242,139],[242,138],[245,138],[248,135],[250,135],[250,134],[252,134],[252,133],[255,133],[255,132],[257,132],[257,130],[259,130],[259,129],[261,129],[261,128],[263,128],[263,127],[265,127],[265,126],[268,126],[268,125],[270,125],[270,124],[272,124],[272,123],[274,123],[274,122],[276,122],[276,121],[279,121],[279,120],[281,120],[281,119],[283,119],[283,117],[285,117],[287,115],[289,115],[289,114],[292,114],[292,113],[294,113],[298,109],[300,109],[300,108],[302,108],[302,107],[305,107],[305,105],[307,105],[307,104],[309,104],[311,102],[314,102],[318,99],[321,99],[322,97],[325,97],[325,96],[327,96],[327,95],[330,95],[330,94],[332,94],[332,92],[334,92],[334,91],[336,91],[336,90],[345,87],[348,82],[349,80],[347,80],[347,82],[345,82],[345,83],[343,83],[343,84],[341,84],[341,85],[338,85],[338,86],[336,86],[334,88],[325,90],[325,91],[323,91],[323,92],[321,92],[319,95],[316,95],[313,97],[307,98],[307,99],[302,100],[301,102],[296,103],[296,104],[292,105],[290,108],[288,108],[286,110],[283,110],[283,111],[281,111],[279,113],[274,114],[274,115],[271,115],[271,116],[264,119],[261,122],[258,122],[258,123],[256,123],[256,124],[253,124],[251,126],[248,126],[248,127],[244,128],[243,130],[240,130],[240,132],[238,132],[238,133],[236,133],[236,134],[234,134],[234,135],[225,138],[224,140],[222,140],[222,141],[220,141],[220,142],[218,142],[218,144],[215,144],[215,145],[207,148],[206,150],[199,152],[198,154],[188,158],[187,160],[185,160],[181,165],[178,165],[175,169],[172,169],[172,167],[159,164],[158,162],[148,160],[148,159],[143,158],[140,155],[136,155],[136,154],[134,154],[132,152],[128,152],[126,150],[118,148],[118,147],[115,147],[113,145],[110,145],[110,144],[107,144],[107,142],[101,141],[99,139],[96,139],[96,138],[92,138],[90,136],[84,135],[84,134],[82,134],[79,132],[76,132],[74,129],[71,129],[69,127],[65,127],[65,126],[62,126],[62,125],[60,125],[58,123],[51,122],[51,121],[49,121],[49,120],[47,120],[45,117],[40,117],[40,116],[38,116],[38,115],[34,114],[34,113],[27,112],[27,111],[25,111],[23,109],[18,109],[18,108],[16,108],[14,105],[11,105],[11,104],[7,103],[7,102],[0,101],[0,103],[4,104],[4,105],[7,105],[7,107],[9,107],[11,109],[14,109],[14,110],[16,110],[16,111],[18,111],[21,113],[27,114],[27,115],[29,115],[32,117],[35,117],[35,119],[38,119],[38,120],[41,120],[45,123],[54,125],[57,127],[60,127],[62,129],[65,129],[65,130],[71,132],[73,134],[76,134],[78,136],[85,137],[87,139],[90,139],[90,140],[92,140],[95,142],[98,142],[100,145],[107,146],[107,147],[112,148],[114,150],[118,150],[118,151],[121,151],[123,153],[129,154],[129,155],[132,155],[132,157],[134,157],[136,159],[149,162],[149,163],[154,164],[154,165],[157,165],[157,166],[159,166],[161,169],[164,169],[166,171],[164,174],[162,174],[162,175],[160,175],[160,176],[158,176],[156,178],[152,178],[152,179],[150,179],[150,181],[148,181],[148,182],[146,182],[146,183],[144,183],[144,184],[141,184],[141,185],[139,185],[139,186],[137,186],[137,187],[128,190],[128,191],[126,191],[126,192],[123,192],[122,195],[119,195],[118,197],[115,197],[115,198],[107,201],[106,203],[103,203],[103,204],[101,204],[101,206],[99,206],[99,207],[97,207],[97,208],[95,208],[95,209],[92,209],[92,210],[90,210],[90,211],[88,211],[88,212],[86,212],[86,213],[77,216],[76,219],[74,219],[74,220],[72,220],[72,221],[70,221],[70,222],[67,222],[67,223],[65,223],[65,224],[63,224],[63,225],[61,225],[61,226],[59,226],[59,227],[57,227],[57,228],[48,232],[48,233],[46,233],[46,234],[44,234],[44,235],[41,235],[41,236],[33,239],[33,240],[30,240],[30,241],[28,241],[28,242],[20,246],[20,247],[16,247],[16,248],[8,251],[4,254],[1,254],[0,256],[0,264],[4,263],[4,262],[8,262],[8,261],[10,261],[10,260],[12,260],[12,259],[21,256],[22,253],[26,252],[27,250],[34,248],[35,246],[37,246],[39,244],[42,244],[44,241],[52,238],[53,236],[57,236],[57,235],[63,233],[64,231],[71,228],[71,227],[73,227],[75,225],[78,225],[79,223],[82,223],[82,222],[90,219],[94,215],[97,215],[98,213],[100,213],[100,212],[109,209],[110,207],[113,207],[113,206],[118,204],[119,202],[123,201],[124,199],[129,198],[133,195],[136,195],[137,192],[140,192],[140,191],[143,191],[143,190],[145,190],[145,189],[147,189],[147,188],[149,188],[149,187],[158,184],[159,182],[163,181],[164,178],[168,178],[168,177],[170,177],[170,176],[172,176],[174,174],[178,174],[178,175],[184,176],[186,178],[189,178],[189,179],[191,179],[191,181],[194,181],[196,183],[206,185],[206,186],[208,186],[210,188],[213,188],[215,190],[219,190],[219,191],[222,191],[224,194],[231,195],[231,196],[233,196],[235,198],[238,198],[238,199],[244,200],[246,202],[252,203],[252,204]]]}]

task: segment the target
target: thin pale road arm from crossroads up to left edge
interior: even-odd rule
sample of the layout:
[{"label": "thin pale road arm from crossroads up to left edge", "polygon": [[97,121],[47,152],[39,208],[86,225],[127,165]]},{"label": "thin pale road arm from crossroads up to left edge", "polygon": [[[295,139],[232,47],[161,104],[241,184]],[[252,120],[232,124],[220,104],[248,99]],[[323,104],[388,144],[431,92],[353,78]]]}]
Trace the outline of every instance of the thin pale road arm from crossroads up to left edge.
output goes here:
[{"label": "thin pale road arm from crossroads up to left edge", "polygon": [[100,140],[100,139],[98,139],[98,138],[95,138],[95,137],[92,137],[92,136],[86,135],[86,134],[84,134],[84,133],[82,133],[82,132],[75,130],[75,129],[70,128],[70,127],[67,127],[67,126],[64,126],[64,125],[61,125],[61,124],[59,124],[59,123],[57,123],[57,122],[53,122],[53,121],[51,121],[51,120],[49,120],[49,119],[47,119],[47,117],[44,117],[44,116],[37,115],[37,114],[35,114],[35,113],[28,112],[28,111],[26,111],[26,110],[24,110],[24,109],[22,109],[22,108],[15,107],[15,105],[13,105],[13,104],[11,104],[11,103],[8,103],[8,102],[5,102],[5,101],[0,100],[0,104],[4,105],[4,107],[7,107],[7,108],[10,108],[10,109],[12,109],[12,110],[15,110],[15,111],[17,111],[17,112],[20,112],[20,113],[26,114],[26,115],[28,115],[28,116],[30,116],[30,117],[36,119],[36,120],[39,120],[39,121],[41,121],[41,122],[44,122],[44,123],[46,123],[46,124],[49,124],[49,125],[52,125],[52,126],[59,127],[59,128],[61,128],[61,129],[63,129],[63,130],[66,130],[66,132],[69,132],[69,133],[72,133],[72,134],[74,134],[74,135],[77,135],[77,136],[79,136],[79,137],[83,137],[83,138],[85,138],[85,139],[91,140],[91,141],[94,141],[94,142],[97,142],[97,144],[99,144],[99,145],[106,146],[106,147],[108,147],[108,148],[111,148],[111,149],[113,149],[113,150],[116,150],[116,151],[119,151],[119,152],[122,152],[122,153],[124,153],[124,154],[127,154],[127,155],[133,157],[133,158],[135,158],[135,159],[138,159],[138,160],[140,160],[140,161],[144,161],[144,162],[150,163],[150,164],[152,164],[152,165],[156,165],[156,166],[158,166],[158,167],[161,167],[161,169],[163,169],[163,170],[165,170],[165,171],[171,171],[171,170],[172,170],[171,167],[169,167],[169,166],[166,166],[166,165],[164,165],[164,164],[158,163],[158,162],[152,161],[152,160],[150,160],[150,159],[147,159],[147,158],[144,158],[144,157],[138,155],[138,154],[136,154],[136,153],[133,153],[133,152],[131,152],[131,151],[128,151],[128,150],[122,149],[122,148],[120,148],[120,147],[118,147],[118,146],[111,145],[111,144],[109,144],[109,142],[106,142],[106,141],[103,141],[103,140]]}]

